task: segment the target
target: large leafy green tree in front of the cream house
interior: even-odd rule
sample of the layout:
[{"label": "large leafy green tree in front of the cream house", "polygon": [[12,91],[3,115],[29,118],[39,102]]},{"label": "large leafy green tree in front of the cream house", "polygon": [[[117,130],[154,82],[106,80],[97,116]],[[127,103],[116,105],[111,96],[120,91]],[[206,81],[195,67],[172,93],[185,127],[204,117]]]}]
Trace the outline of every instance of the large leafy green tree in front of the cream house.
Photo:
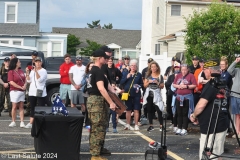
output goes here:
[{"label": "large leafy green tree in front of the cream house", "polygon": [[240,11],[227,3],[212,3],[207,10],[194,11],[186,19],[186,58],[227,56],[231,63],[240,53]]}]

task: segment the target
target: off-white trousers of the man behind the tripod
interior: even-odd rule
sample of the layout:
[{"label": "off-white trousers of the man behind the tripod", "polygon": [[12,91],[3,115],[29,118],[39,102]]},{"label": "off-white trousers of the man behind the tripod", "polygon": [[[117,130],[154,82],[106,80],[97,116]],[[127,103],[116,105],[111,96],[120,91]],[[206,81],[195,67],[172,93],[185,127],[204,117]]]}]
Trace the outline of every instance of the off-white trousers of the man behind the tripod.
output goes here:
[{"label": "off-white trousers of the man behind the tripod", "polygon": [[[223,154],[226,134],[227,134],[227,129],[226,129],[226,131],[216,133],[215,140],[214,140],[214,145],[213,145],[213,153],[214,154],[216,154],[216,155]],[[206,137],[207,137],[206,134],[201,134],[200,149],[199,149],[199,159],[200,160],[202,158],[202,152],[203,152],[203,148],[204,148],[204,145],[205,145]],[[209,138],[208,138],[208,146],[207,147],[210,147],[212,137],[213,137],[213,134],[210,134]],[[214,156],[213,155],[210,156],[210,158],[212,158],[212,157],[214,157]]]}]

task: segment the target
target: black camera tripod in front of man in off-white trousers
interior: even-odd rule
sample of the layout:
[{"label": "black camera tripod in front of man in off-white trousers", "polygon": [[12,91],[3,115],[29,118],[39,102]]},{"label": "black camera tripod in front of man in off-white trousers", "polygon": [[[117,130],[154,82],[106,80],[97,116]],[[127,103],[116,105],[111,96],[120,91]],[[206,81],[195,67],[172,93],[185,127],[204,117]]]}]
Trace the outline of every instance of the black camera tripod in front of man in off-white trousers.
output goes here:
[{"label": "black camera tripod in front of man in off-white trousers", "polygon": [[[217,107],[215,108],[216,105],[217,105]],[[237,132],[236,132],[236,129],[234,127],[234,123],[233,123],[233,120],[231,118],[231,115],[229,113],[229,110],[228,110],[227,106],[228,106],[227,105],[227,99],[224,97],[224,95],[218,93],[217,96],[216,96],[216,99],[214,100],[214,104],[213,104],[213,108],[212,108],[212,113],[211,113],[211,117],[210,117],[210,121],[209,121],[209,125],[208,125],[208,130],[207,130],[207,136],[206,136],[206,140],[205,140],[205,144],[204,144],[204,150],[203,150],[202,158],[201,158],[202,160],[210,160],[210,159],[219,158],[219,157],[240,159],[239,156],[225,156],[225,155],[217,155],[217,154],[213,153],[213,146],[214,146],[214,141],[215,141],[215,136],[216,136],[216,128],[217,128],[219,113],[220,113],[221,110],[227,112],[228,118],[230,119],[230,122],[232,124],[234,133],[237,137]],[[217,116],[216,116],[215,124],[212,124],[214,109],[217,109]],[[212,140],[211,140],[210,147],[207,147],[211,125],[214,125],[213,135],[212,135]],[[238,145],[240,146],[240,142],[239,142],[238,137],[237,137],[237,142],[238,142]],[[207,154],[208,152],[211,152],[211,155],[213,155],[214,157],[210,158],[210,156]]]}]

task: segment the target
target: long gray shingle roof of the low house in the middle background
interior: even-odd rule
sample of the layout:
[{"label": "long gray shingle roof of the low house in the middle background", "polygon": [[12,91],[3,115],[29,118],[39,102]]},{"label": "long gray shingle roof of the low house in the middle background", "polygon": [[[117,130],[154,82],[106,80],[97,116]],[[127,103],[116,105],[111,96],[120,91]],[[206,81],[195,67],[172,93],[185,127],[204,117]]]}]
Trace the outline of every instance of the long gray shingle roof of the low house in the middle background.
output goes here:
[{"label": "long gray shingle roof of the low house in the middle background", "polygon": [[91,28],[52,28],[53,33],[73,34],[83,42],[80,47],[86,47],[86,40],[95,41],[102,45],[115,43],[122,48],[136,48],[141,40],[141,30],[121,29],[91,29]]}]

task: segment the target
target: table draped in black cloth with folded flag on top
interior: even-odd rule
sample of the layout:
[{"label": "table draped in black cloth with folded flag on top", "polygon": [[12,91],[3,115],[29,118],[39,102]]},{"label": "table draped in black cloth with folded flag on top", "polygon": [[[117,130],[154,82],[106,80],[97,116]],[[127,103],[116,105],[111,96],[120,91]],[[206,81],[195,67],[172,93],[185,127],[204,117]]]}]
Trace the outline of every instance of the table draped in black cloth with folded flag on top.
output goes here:
[{"label": "table draped in black cloth with folded flag on top", "polygon": [[52,107],[36,107],[31,134],[38,159],[79,160],[84,116],[67,108],[68,116],[52,115]]}]

